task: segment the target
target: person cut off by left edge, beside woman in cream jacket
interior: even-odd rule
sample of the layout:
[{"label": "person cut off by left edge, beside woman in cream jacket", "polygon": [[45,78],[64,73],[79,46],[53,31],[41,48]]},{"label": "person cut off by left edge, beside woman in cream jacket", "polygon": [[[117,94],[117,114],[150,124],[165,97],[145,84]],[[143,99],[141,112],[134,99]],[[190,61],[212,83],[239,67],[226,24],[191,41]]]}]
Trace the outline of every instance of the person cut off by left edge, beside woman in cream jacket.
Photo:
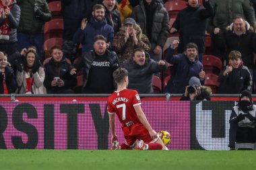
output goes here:
[{"label": "person cut off by left edge, beside woman in cream jacket", "polygon": [[0,94],[14,93],[16,87],[13,69],[7,66],[7,54],[0,52]]}]

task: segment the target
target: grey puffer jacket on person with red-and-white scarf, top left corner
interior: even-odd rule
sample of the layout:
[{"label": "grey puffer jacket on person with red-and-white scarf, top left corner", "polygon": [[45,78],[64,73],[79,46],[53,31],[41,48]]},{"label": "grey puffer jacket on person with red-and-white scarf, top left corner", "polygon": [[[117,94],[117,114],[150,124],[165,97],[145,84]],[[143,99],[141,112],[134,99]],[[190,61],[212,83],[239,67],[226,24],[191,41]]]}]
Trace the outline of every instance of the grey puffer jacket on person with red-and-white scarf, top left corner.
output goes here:
[{"label": "grey puffer jacket on person with red-and-white scarf, top left corner", "polygon": [[[10,6],[10,14],[7,17],[9,28],[11,28],[11,31],[9,33],[9,40],[0,39],[0,43],[18,42],[17,28],[20,23],[20,7],[17,5],[17,2],[15,0],[13,0],[13,3],[11,3]],[[3,17],[0,17],[0,26],[3,26],[4,22],[5,19],[3,19]]]}]

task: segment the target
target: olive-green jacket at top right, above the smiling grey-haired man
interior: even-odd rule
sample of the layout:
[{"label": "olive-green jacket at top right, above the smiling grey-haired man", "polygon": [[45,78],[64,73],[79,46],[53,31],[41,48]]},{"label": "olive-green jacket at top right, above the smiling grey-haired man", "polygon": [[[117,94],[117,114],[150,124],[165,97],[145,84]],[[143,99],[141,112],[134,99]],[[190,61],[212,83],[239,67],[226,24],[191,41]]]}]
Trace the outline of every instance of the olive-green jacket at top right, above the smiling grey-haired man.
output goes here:
[{"label": "olive-green jacket at top right, above the smiling grey-haired man", "polygon": [[253,28],[256,28],[256,20],[253,6],[250,0],[211,0],[214,7],[214,16],[209,23],[208,32],[212,33],[214,28],[224,30],[236,16],[244,17]]}]

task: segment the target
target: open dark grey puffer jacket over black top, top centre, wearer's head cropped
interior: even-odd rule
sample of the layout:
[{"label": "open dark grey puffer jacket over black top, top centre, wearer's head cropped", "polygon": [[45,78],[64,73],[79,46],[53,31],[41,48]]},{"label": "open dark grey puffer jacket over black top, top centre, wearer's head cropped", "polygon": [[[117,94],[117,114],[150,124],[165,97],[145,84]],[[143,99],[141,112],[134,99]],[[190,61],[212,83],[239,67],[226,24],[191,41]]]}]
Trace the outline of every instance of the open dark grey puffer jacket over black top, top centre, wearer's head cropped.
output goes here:
[{"label": "open dark grey puffer jacket over black top, top centre, wearer's head cropped", "polygon": [[[151,44],[156,44],[163,47],[168,36],[169,17],[164,5],[158,1],[156,1],[156,3],[157,7],[152,24]],[[135,19],[137,24],[140,26],[142,34],[148,35],[146,32],[146,10],[143,1],[133,8],[131,17],[133,17],[133,19]]]}]

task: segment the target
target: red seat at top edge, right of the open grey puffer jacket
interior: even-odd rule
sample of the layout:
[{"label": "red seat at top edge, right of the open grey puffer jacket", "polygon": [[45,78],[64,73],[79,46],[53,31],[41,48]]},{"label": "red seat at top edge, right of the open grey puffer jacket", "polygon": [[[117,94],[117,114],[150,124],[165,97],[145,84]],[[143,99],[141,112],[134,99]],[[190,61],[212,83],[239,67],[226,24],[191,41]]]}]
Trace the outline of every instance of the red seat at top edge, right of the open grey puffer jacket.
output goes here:
[{"label": "red seat at top edge, right of the open grey puffer jacket", "polygon": [[170,18],[176,18],[179,11],[187,7],[187,2],[183,0],[173,0],[164,3],[166,10],[168,11]]}]

